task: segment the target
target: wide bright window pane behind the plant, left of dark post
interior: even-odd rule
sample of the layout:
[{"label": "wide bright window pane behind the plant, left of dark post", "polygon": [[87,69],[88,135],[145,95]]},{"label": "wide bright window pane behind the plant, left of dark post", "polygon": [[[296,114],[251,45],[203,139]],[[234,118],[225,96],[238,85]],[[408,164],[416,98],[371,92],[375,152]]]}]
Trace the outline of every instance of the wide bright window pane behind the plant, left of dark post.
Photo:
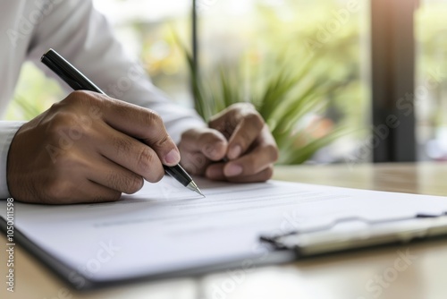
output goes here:
[{"label": "wide bright window pane behind the plant, left of dark post", "polygon": [[[222,67],[265,82],[280,69],[299,72],[313,57],[304,80],[337,89],[321,95],[327,106],[297,124],[319,138],[338,127],[355,128],[316,153],[319,163],[358,163],[372,159],[370,135],[369,17],[367,3],[335,0],[225,0],[198,2],[198,44],[202,77],[218,80]],[[209,82],[213,85],[213,82]],[[265,88],[240,81],[248,93]],[[314,90],[318,93],[320,90]],[[251,97],[247,94],[246,97]],[[308,135],[307,133],[305,135]],[[305,142],[295,141],[297,146]]]}]

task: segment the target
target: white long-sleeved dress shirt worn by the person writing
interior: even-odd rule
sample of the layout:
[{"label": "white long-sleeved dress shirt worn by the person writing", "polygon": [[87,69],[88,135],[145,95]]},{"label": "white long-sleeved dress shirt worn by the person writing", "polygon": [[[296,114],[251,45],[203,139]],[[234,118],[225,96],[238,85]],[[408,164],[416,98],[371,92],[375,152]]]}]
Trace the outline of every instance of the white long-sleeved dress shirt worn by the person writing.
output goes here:
[{"label": "white long-sleeved dress shirt worn by the person writing", "polygon": [[[105,17],[88,0],[0,0],[0,112],[4,115],[21,71],[31,60],[59,80],[40,57],[52,47],[85,73],[109,96],[148,107],[162,116],[178,143],[181,132],[205,126],[191,109],[174,105],[148,80],[139,64],[126,56]],[[61,81],[66,90],[71,90]],[[24,122],[0,122],[0,199],[6,184],[8,150]],[[32,155],[33,153],[30,153]]]}]

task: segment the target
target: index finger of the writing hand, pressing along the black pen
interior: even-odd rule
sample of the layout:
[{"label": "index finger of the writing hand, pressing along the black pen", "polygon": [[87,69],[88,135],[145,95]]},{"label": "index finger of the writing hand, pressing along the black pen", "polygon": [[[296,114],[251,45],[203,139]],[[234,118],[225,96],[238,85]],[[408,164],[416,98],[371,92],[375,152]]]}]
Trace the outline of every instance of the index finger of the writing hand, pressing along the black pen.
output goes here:
[{"label": "index finger of the writing hand, pressing along the black pen", "polygon": [[180,162],[180,153],[166,132],[162,118],[154,111],[95,92],[77,91],[78,98],[89,98],[90,106],[98,106],[106,124],[115,130],[144,141],[154,149],[167,166]]}]

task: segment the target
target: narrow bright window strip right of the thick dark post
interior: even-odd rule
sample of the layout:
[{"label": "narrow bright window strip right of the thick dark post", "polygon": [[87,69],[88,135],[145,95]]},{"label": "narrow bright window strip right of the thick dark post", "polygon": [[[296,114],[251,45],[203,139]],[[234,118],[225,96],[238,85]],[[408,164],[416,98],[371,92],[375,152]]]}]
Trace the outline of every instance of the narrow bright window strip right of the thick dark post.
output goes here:
[{"label": "narrow bright window strip right of the thick dark post", "polygon": [[420,160],[447,160],[446,15],[446,0],[423,0],[416,12],[415,107]]}]

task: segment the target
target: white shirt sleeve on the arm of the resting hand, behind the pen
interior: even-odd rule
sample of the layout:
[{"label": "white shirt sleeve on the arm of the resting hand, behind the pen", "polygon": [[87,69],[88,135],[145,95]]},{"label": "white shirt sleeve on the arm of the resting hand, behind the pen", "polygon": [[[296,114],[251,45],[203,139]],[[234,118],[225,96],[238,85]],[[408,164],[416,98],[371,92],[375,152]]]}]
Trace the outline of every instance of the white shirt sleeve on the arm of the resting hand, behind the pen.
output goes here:
[{"label": "white shirt sleeve on the arm of the resting hand, behind the pen", "polygon": [[40,57],[50,47],[110,97],[156,111],[176,143],[187,129],[206,126],[193,109],[175,105],[151,83],[143,68],[114,38],[105,17],[95,10],[91,1],[68,0],[53,4],[31,40],[29,58],[60,81],[40,63]]}]

